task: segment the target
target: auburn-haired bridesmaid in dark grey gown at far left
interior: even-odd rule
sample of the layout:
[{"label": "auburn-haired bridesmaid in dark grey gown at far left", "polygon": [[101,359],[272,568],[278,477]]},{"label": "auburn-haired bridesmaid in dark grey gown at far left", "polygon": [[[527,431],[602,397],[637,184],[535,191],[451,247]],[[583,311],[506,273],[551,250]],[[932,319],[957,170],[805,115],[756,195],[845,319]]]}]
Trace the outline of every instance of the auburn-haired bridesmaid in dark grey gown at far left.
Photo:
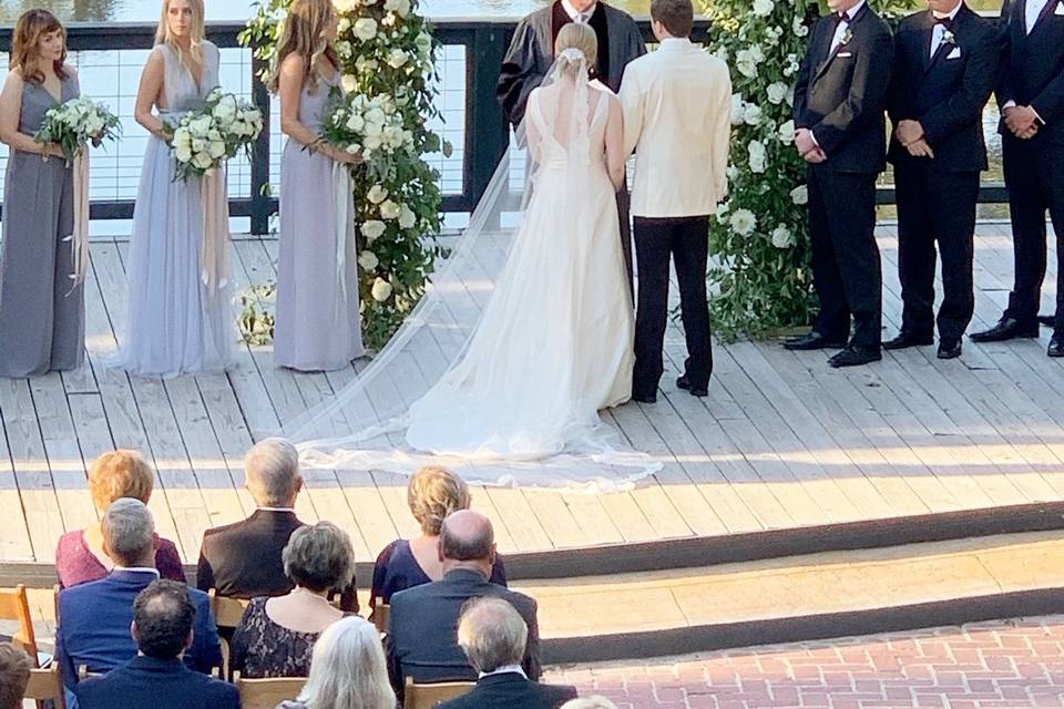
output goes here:
[{"label": "auburn-haired bridesmaid in dark grey gown at far left", "polygon": [[[0,94],[0,141],[10,148],[0,245],[0,377],[76,369],[84,359],[84,287],[74,258],[73,169],[57,146],[33,142],[44,113],[79,95],[64,63],[66,32],[47,10],[19,18]],[[51,160],[49,160],[51,158]]]}]

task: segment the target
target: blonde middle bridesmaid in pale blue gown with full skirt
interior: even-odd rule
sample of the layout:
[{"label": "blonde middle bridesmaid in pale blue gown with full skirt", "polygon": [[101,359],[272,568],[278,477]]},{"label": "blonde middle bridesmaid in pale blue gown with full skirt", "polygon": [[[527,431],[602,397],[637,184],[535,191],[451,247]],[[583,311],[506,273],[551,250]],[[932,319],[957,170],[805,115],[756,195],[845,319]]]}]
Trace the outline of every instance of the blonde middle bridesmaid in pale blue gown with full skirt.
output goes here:
[{"label": "blonde middle bridesmaid in pale blue gown with full skirt", "polygon": [[[203,0],[164,0],[134,109],[151,136],[126,265],[122,363],[131,372],[172,377],[231,363],[225,175],[175,181],[167,145],[167,126],[202,106],[217,85],[218,48],[203,38]],[[205,228],[205,215],[222,215],[211,219],[217,228]],[[209,282],[207,273],[215,275]]]}]

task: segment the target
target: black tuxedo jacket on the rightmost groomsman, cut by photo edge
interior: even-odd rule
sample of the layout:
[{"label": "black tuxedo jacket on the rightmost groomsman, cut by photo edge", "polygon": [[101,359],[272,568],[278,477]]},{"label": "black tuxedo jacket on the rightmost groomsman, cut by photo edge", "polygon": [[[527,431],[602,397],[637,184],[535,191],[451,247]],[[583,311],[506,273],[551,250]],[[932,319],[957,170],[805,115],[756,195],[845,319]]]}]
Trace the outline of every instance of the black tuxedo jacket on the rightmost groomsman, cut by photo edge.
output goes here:
[{"label": "black tuxedo jacket on the rightmost groomsman, cut by photo edge", "polygon": [[[1050,0],[1046,11],[1027,34],[1026,0],[1005,0],[1001,9],[1005,53],[998,82],[998,104],[1015,101],[1034,109],[1045,125],[1034,140],[1064,144],[1064,14],[1055,8],[1061,0]],[[998,132],[1009,131],[1004,120]]]}]

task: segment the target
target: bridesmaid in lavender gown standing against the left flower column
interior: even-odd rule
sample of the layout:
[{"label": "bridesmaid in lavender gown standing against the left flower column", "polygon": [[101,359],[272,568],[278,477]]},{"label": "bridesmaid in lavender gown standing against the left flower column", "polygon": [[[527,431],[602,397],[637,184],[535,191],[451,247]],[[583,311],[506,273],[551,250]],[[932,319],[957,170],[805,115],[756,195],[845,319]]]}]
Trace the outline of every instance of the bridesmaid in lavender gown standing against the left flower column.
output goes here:
[{"label": "bridesmaid in lavender gown standing against the left flower column", "polygon": [[[329,94],[340,84],[332,49],[337,24],[330,0],[295,0],[270,81],[270,90],[280,94],[280,130],[288,136],[280,158],[274,359],[304,371],[342,369],[364,353],[355,203],[349,189],[338,197],[336,188],[339,171],[357,158],[316,143]],[[348,215],[342,228],[337,226],[340,209]]]}]

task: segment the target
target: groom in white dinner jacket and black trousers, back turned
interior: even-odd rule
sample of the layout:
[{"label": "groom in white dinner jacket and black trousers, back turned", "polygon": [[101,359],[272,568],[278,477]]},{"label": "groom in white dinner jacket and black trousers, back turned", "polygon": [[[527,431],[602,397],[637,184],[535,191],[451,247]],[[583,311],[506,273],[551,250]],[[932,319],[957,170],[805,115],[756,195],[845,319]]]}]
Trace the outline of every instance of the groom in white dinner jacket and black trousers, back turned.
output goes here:
[{"label": "groom in white dinner jacket and black trousers, back turned", "polygon": [[728,66],[690,42],[690,0],[653,0],[651,18],[661,48],[628,64],[621,84],[624,146],[636,152],[632,214],[640,289],[632,398],[644,403],[657,401],[665,370],[671,257],[688,354],[676,386],[695,397],[709,391],[709,215],[727,192],[732,133]]}]

